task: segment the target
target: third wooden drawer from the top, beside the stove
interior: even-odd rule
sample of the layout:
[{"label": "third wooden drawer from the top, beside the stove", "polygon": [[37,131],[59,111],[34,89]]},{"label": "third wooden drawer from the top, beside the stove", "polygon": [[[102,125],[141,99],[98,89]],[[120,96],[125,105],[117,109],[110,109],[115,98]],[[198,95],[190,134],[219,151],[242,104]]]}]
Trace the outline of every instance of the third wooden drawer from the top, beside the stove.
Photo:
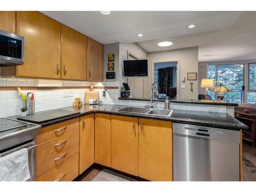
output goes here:
[{"label": "third wooden drawer from the top, beside the stove", "polygon": [[63,148],[63,150],[55,152],[54,154],[44,159],[41,159],[40,161],[36,162],[36,177],[46,173],[51,168],[62,163],[63,161],[67,160],[78,152],[79,142],[76,141],[75,143]]}]

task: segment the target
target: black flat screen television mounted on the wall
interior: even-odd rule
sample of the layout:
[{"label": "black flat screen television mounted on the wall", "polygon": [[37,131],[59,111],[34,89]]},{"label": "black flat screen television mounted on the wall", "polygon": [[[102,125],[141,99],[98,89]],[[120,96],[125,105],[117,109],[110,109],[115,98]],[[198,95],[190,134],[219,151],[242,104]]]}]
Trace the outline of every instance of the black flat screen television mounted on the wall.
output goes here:
[{"label": "black flat screen television mounted on the wall", "polygon": [[123,72],[125,77],[146,77],[147,59],[124,60]]}]

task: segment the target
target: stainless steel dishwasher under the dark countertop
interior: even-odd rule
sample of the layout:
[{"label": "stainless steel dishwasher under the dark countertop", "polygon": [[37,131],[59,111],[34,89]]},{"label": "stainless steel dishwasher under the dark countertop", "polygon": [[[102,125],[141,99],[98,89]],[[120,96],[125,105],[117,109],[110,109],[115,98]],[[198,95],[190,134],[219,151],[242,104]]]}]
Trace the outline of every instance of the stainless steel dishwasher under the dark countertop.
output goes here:
[{"label": "stainless steel dishwasher under the dark countertop", "polygon": [[174,181],[239,181],[239,134],[173,123]]}]

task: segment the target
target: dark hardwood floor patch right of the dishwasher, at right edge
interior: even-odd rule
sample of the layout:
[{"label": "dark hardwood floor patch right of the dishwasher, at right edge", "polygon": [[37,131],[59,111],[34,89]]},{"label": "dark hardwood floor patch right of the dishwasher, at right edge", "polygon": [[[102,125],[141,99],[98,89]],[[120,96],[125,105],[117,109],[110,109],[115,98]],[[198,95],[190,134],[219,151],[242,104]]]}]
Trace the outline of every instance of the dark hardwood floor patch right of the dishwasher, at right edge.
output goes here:
[{"label": "dark hardwood floor patch right of the dishwasher, at right edge", "polygon": [[243,142],[243,181],[256,181],[256,148]]}]

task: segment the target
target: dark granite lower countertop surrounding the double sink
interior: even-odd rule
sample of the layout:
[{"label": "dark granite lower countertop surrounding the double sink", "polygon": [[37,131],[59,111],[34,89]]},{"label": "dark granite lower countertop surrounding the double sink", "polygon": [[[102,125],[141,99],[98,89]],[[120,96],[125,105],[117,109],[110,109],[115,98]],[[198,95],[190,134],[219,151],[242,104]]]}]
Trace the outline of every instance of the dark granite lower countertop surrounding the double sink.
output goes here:
[{"label": "dark granite lower countertop surrounding the double sink", "polygon": [[[220,129],[229,129],[229,130],[246,130],[248,127],[238,121],[237,119],[231,117],[226,113],[210,113],[210,112],[201,112],[201,111],[187,111],[187,110],[174,110],[170,117],[163,117],[158,115],[148,115],[148,114],[136,114],[136,113],[126,113],[126,112],[118,112],[118,109],[124,108],[126,105],[118,105],[118,104],[102,104],[98,105],[82,105],[81,109],[78,109],[77,106],[69,106],[66,108],[61,108],[61,110],[69,110],[69,111],[77,111],[79,113],[60,117],[57,119],[52,119],[48,121],[44,121],[40,123],[42,127],[58,123],[61,121],[65,121],[68,119],[80,117],[83,115],[88,115],[91,113],[105,113],[105,114],[113,114],[113,115],[124,115],[124,116],[132,116],[132,117],[143,117],[143,118],[153,118],[159,120],[167,120],[177,123],[188,123],[194,125],[204,125],[210,127],[217,127]],[[59,110],[59,109],[55,109]],[[54,110],[48,110],[54,111]],[[47,111],[42,111],[47,112]],[[37,113],[42,113],[37,112]],[[11,118],[15,118],[18,116],[13,116]]]}]

